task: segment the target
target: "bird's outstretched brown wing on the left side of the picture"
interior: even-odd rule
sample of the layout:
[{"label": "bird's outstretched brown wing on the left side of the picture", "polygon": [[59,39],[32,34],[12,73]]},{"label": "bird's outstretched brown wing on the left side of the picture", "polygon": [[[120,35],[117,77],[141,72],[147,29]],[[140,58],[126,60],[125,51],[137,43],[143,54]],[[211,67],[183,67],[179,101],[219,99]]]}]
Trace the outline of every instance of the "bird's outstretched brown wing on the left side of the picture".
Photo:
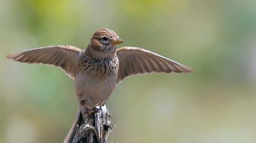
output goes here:
[{"label": "bird's outstretched brown wing on the left side of the picture", "polygon": [[6,57],[19,62],[54,65],[62,68],[70,78],[74,79],[81,52],[80,48],[71,45],[52,45],[13,53]]}]

